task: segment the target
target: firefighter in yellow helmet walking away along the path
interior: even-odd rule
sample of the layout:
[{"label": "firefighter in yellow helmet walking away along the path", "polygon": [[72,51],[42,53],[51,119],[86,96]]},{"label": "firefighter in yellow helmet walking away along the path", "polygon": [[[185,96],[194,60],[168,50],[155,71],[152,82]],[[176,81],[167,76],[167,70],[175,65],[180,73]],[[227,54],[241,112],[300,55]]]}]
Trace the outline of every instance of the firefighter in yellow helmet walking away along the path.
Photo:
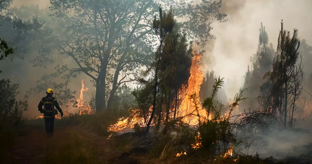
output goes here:
[{"label": "firefighter in yellow helmet walking away along the path", "polygon": [[56,101],[56,98],[53,97],[53,90],[49,88],[46,90],[46,97],[43,97],[38,105],[38,110],[43,113],[46,133],[48,137],[51,137],[54,131],[54,119],[55,115],[57,115],[57,110],[54,109],[54,106],[61,113],[61,117],[63,117],[62,109]]}]

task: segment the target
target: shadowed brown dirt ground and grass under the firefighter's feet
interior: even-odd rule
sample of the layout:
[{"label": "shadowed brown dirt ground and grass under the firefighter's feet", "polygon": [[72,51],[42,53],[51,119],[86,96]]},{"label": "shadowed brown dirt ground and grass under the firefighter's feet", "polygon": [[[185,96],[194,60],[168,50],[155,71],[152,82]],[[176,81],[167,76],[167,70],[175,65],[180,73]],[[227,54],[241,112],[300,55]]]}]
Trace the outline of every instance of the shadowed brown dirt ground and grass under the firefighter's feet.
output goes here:
[{"label": "shadowed brown dirt ground and grass under the firefighter's feet", "polygon": [[107,139],[107,136],[99,136],[87,127],[56,126],[52,137],[47,137],[43,126],[29,127],[27,135],[17,138],[9,158],[4,163],[159,163],[144,157],[132,157],[126,146],[127,141],[116,142],[114,139]]}]

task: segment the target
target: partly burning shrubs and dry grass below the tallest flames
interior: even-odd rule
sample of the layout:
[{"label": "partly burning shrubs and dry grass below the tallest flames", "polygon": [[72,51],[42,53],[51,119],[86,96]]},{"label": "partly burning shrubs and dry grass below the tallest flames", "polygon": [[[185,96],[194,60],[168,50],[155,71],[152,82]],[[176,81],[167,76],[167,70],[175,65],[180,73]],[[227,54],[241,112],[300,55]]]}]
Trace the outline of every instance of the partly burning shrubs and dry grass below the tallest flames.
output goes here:
[{"label": "partly burning shrubs and dry grass below the tallest flames", "polygon": [[[161,132],[156,133],[154,144],[151,146],[151,154],[159,159],[168,159],[171,157],[183,158],[184,156],[201,158],[202,160],[213,162],[221,162],[227,160],[231,155],[233,147],[240,142],[237,141],[233,133],[232,124],[229,117],[232,115],[233,109],[243,100],[243,90],[235,95],[234,101],[231,103],[227,115],[221,115],[221,104],[216,99],[219,88],[223,86],[223,78],[216,78],[213,86],[211,97],[207,97],[203,103],[197,102],[197,95],[190,96],[196,108],[195,115],[198,116],[198,125],[195,127],[183,123],[181,120],[173,120],[174,128],[167,135]],[[207,111],[206,117],[200,116],[199,108]],[[217,160],[219,157],[221,160]],[[230,159],[232,161],[236,161]]]}]

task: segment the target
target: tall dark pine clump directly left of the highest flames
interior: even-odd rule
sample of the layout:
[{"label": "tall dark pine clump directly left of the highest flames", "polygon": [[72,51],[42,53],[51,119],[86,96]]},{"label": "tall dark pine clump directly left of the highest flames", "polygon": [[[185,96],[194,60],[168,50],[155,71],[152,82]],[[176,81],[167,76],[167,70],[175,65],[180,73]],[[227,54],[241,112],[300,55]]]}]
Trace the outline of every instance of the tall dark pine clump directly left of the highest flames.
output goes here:
[{"label": "tall dark pine clump directly left of the highest flames", "polygon": [[[163,102],[166,102],[165,123],[169,121],[170,109],[175,108],[174,118],[176,116],[178,106],[178,95],[183,91],[183,87],[187,87],[189,68],[191,66],[192,48],[188,47],[185,35],[181,36],[178,27],[173,18],[172,8],[169,12],[164,12],[159,6],[159,18],[154,17],[153,29],[159,39],[158,50],[155,53],[155,61],[152,67],[148,69],[154,70],[152,78],[153,86],[153,108],[147,122],[144,136],[147,135],[149,127],[152,123],[158,105],[158,127],[162,119]],[[191,46],[191,44],[190,44]],[[145,72],[147,74],[148,72]],[[151,81],[150,81],[151,82]],[[156,104],[158,93],[161,93],[160,103]],[[166,100],[164,98],[166,97]],[[174,103],[173,103],[174,102]],[[164,133],[166,132],[166,128]]]}]

